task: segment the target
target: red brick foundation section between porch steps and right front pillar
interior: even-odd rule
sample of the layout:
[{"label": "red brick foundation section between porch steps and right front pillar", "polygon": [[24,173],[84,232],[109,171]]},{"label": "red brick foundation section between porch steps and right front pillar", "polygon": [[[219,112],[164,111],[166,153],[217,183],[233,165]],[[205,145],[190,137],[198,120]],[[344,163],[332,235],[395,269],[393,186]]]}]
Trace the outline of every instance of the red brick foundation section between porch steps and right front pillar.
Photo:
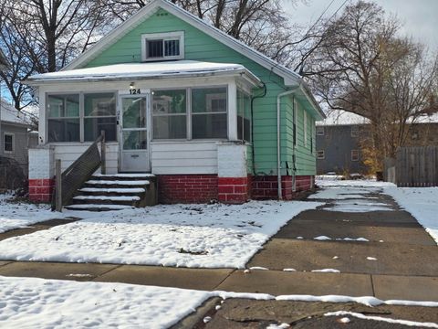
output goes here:
[{"label": "red brick foundation section between porch steps and right front pillar", "polygon": [[217,200],[217,175],[157,175],[158,202],[206,203]]}]

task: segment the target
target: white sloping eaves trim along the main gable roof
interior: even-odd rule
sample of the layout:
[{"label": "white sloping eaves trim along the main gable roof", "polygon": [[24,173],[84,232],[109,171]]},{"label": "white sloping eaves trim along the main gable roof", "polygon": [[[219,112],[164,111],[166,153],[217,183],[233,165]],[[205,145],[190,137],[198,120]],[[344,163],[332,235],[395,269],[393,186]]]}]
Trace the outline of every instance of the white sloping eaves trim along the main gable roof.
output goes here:
[{"label": "white sloping eaves trim along the main gable roof", "polygon": [[98,57],[101,52],[109,48],[121,37],[125,36],[128,32],[130,32],[130,30],[141,24],[144,19],[152,16],[160,8],[166,10],[173,16],[177,16],[178,18],[182,19],[184,22],[192,25],[193,27],[198,28],[208,36],[214,37],[214,39],[223,43],[225,46],[228,46],[229,48],[232,48],[235,51],[241,53],[246,58],[254,60],[256,63],[263,66],[264,68],[272,70],[274,73],[284,79],[285,85],[295,86],[301,81],[301,77],[293,70],[287,69],[285,66],[277,63],[275,60],[266,57],[255,49],[248,47],[247,45],[245,45],[245,43],[236,40],[234,37],[227,35],[220,29],[210,25],[209,23],[203,21],[197,16],[190,14],[183,8],[177,5],[173,5],[167,0],[151,1],[148,5],[142,7],[133,16],[130,16],[130,18],[123,22],[119,27],[116,27],[108,35],[102,37],[98,43],[89,48],[89,50],[85,51],[82,55],[73,60],[62,70],[83,68],[84,65],[86,65],[86,63],[88,63],[91,59]]}]

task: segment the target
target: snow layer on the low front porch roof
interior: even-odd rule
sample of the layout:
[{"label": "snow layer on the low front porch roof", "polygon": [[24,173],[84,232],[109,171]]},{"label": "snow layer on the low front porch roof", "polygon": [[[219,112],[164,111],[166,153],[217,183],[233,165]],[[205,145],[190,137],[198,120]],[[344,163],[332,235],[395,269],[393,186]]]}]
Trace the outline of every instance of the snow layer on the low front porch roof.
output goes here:
[{"label": "snow layer on the low front porch roof", "polygon": [[151,63],[113,64],[87,69],[69,69],[58,72],[36,74],[30,81],[58,80],[112,80],[134,78],[163,78],[214,73],[243,73],[259,81],[240,64],[210,63],[195,60],[178,60]]}]

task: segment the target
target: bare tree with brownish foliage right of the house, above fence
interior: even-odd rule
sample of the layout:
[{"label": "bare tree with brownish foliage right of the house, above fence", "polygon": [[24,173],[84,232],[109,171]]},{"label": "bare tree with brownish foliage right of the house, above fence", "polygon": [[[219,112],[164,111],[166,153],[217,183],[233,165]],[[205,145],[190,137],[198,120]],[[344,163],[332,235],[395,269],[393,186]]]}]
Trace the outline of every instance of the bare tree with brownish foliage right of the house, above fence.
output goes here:
[{"label": "bare tree with brownish foliage right of the house, above fence", "polygon": [[369,154],[376,168],[403,145],[408,123],[438,111],[433,98],[438,57],[399,37],[399,30],[399,22],[379,5],[358,1],[328,22],[310,59],[308,76],[328,107],[369,119]]}]

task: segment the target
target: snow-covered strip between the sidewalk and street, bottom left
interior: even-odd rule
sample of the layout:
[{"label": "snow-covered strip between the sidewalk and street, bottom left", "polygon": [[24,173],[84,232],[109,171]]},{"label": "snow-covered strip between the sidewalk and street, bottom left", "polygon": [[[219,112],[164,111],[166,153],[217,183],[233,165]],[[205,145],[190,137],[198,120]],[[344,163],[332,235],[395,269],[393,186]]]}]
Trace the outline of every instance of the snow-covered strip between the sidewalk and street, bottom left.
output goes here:
[{"label": "snow-covered strip between the sidewalk and street, bottom left", "polygon": [[210,292],[0,277],[2,328],[167,328]]}]

